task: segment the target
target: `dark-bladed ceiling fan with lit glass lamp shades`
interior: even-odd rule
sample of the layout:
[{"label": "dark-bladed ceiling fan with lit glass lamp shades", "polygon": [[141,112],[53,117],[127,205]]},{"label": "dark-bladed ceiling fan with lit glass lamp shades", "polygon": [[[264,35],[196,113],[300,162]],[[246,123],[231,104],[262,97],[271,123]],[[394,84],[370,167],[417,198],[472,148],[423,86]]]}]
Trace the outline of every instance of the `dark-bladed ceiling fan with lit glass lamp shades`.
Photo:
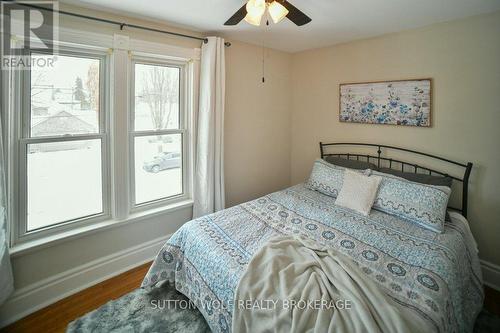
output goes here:
[{"label": "dark-bladed ceiling fan with lit glass lamp shades", "polygon": [[309,16],[286,0],[248,0],[224,25],[236,25],[244,19],[252,25],[259,26],[266,10],[274,23],[280,22],[285,17],[298,26],[311,22]]}]

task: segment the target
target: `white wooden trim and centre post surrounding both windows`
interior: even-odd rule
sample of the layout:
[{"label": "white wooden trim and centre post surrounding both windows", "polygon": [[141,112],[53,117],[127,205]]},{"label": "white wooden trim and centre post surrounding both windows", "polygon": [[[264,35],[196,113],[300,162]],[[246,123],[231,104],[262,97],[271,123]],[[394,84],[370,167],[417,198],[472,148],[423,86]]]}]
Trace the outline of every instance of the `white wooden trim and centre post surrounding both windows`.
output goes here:
[{"label": "white wooden trim and centre post surrounding both windows", "polygon": [[[57,244],[69,239],[78,239],[89,234],[110,228],[119,228],[129,223],[142,223],[159,216],[168,216],[178,209],[188,209],[193,205],[193,175],[195,162],[195,132],[196,121],[194,110],[199,99],[200,78],[200,48],[185,48],[165,43],[138,40],[127,35],[102,34],[60,27],[60,40],[53,41],[59,50],[77,50],[101,56],[106,56],[105,92],[101,97],[106,98],[105,108],[101,107],[101,114],[105,114],[107,126],[106,154],[107,160],[102,160],[104,166],[107,161],[106,172],[102,173],[103,184],[108,184],[106,193],[109,200],[109,214],[95,219],[86,219],[75,222],[72,220],[64,225],[54,225],[47,229],[33,232],[28,237],[19,237],[19,154],[21,121],[18,119],[21,112],[21,92],[23,89],[22,71],[8,70],[0,73],[2,99],[1,117],[4,121],[4,147],[6,154],[6,187],[7,187],[7,234],[9,248],[12,255],[31,253],[35,249]],[[20,36],[22,37],[22,36]],[[22,46],[22,38],[16,43]],[[37,45],[31,41],[31,45]],[[39,46],[42,46],[41,44]],[[141,57],[160,62],[177,63],[184,68],[185,116],[183,136],[183,190],[184,195],[176,198],[167,198],[161,202],[144,207],[133,207],[130,202],[130,74],[131,59]],[[181,73],[182,75],[182,73]],[[101,81],[103,77],[101,77]],[[101,101],[102,103],[102,101]],[[181,115],[181,116],[182,116]],[[104,127],[101,127],[104,129]],[[103,195],[104,192],[103,192]],[[103,205],[104,209],[104,205]]]}]

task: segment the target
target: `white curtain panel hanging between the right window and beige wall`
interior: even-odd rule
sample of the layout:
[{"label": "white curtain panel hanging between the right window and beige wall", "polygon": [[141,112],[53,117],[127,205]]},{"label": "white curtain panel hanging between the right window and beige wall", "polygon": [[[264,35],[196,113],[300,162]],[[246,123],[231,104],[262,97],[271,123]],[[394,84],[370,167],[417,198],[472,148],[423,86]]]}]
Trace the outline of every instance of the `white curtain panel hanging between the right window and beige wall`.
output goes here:
[{"label": "white curtain panel hanging between the right window and beige wall", "polygon": [[193,217],[224,209],[224,39],[209,37],[201,48]]}]

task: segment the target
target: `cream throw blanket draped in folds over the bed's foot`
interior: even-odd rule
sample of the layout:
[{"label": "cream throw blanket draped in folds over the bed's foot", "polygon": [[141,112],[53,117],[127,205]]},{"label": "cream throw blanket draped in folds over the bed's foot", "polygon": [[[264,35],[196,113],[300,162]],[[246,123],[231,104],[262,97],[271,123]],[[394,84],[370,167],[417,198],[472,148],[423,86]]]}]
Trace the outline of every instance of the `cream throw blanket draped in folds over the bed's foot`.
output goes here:
[{"label": "cream throw blanket draped in folds over the bed's foot", "polygon": [[[293,304],[293,302],[295,302]],[[290,236],[255,253],[235,295],[232,331],[431,332],[331,248]]]}]

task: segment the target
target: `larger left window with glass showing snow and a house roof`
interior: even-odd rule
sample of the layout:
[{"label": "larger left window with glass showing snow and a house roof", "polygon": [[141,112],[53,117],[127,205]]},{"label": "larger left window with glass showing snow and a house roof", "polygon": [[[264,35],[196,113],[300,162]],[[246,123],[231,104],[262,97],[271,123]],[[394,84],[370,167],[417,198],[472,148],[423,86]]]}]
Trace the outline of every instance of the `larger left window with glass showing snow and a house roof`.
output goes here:
[{"label": "larger left window with glass showing snow and a house roof", "polygon": [[[53,58],[31,53],[32,58]],[[64,51],[20,74],[18,235],[109,216],[106,56]]]}]

